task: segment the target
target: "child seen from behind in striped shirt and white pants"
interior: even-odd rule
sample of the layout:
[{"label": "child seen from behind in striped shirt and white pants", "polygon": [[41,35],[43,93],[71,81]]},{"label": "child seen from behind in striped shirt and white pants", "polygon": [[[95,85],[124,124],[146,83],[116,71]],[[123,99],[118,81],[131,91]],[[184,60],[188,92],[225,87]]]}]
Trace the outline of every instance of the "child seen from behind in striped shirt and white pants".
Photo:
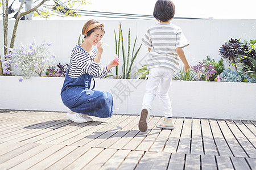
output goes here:
[{"label": "child seen from behind in striped shirt and white pants", "polygon": [[148,28],[142,38],[142,43],[148,47],[147,68],[150,70],[146,92],[143,97],[139,130],[147,131],[152,101],[156,91],[163,103],[164,120],[159,122],[157,128],[174,129],[171,100],[168,95],[172,76],[179,66],[179,58],[184,64],[184,72],[190,66],[183,49],[189,42],[183,35],[180,27],[170,24],[174,18],[175,6],[170,0],[158,0],[155,3],[154,17],[160,22]]}]

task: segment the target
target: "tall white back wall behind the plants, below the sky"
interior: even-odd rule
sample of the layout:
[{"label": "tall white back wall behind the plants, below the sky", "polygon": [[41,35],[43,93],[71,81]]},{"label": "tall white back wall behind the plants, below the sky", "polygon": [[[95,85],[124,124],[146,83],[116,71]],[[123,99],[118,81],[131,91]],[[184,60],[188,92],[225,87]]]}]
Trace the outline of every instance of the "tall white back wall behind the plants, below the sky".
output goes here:
[{"label": "tall white back wall behind the plants, below the sky", "polygon": [[[56,61],[69,63],[72,48],[77,44],[81,29],[86,21],[83,20],[21,20],[15,40],[15,47],[19,48],[20,42],[29,45],[35,39],[40,44],[42,41],[53,42],[52,51],[56,54]],[[99,20],[104,23],[104,41],[109,47],[104,46],[102,64],[106,65],[114,58],[115,40],[114,30],[118,34],[119,22],[122,24],[127,54],[128,29],[131,31],[131,42],[138,36],[137,48],[140,40],[150,25],[156,20]],[[184,48],[184,52],[191,65],[196,65],[206,56],[220,59],[218,51],[220,46],[230,38],[244,40],[256,39],[256,20],[172,20],[179,25],[191,45]],[[2,25],[2,21],[0,21]],[[9,22],[9,41],[11,39],[14,21]],[[1,27],[0,27],[1,28]],[[0,54],[3,58],[3,29],[0,29]],[[132,44],[133,45],[133,44]],[[142,46],[138,58],[134,62],[132,73],[135,73],[142,65],[146,64],[147,48]],[[122,59],[120,59],[122,62]],[[228,63],[226,63],[228,68]],[[121,73],[121,67],[119,67]],[[114,74],[114,70],[113,70]]]}]

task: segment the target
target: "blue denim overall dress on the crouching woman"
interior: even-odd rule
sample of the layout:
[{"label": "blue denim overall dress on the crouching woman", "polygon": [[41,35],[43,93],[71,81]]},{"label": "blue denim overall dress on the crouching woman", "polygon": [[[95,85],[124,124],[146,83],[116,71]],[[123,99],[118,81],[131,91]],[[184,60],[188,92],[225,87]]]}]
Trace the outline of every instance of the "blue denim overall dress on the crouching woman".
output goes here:
[{"label": "blue denim overall dress on the crouching woman", "polygon": [[[111,117],[113,115],[113,96],[106,91],[90,89],[92,75],[83,74],[78,78],[65,76],[61,99],[63,104],[76,113],[96,117]],[[94,82],[95,85],[95,82]]]}]

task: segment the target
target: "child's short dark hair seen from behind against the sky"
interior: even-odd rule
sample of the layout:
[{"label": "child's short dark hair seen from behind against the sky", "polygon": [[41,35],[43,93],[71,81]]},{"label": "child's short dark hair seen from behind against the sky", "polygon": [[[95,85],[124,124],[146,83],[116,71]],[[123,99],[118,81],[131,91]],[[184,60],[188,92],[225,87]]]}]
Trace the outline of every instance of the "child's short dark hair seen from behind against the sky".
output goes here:
[{"label": "child's short dark hair seen from behind against the sky", "polygon": [[167,22],[174,18],[175,5],[170,0],[158,0],[155,3],[153,15],[156,20]]}]

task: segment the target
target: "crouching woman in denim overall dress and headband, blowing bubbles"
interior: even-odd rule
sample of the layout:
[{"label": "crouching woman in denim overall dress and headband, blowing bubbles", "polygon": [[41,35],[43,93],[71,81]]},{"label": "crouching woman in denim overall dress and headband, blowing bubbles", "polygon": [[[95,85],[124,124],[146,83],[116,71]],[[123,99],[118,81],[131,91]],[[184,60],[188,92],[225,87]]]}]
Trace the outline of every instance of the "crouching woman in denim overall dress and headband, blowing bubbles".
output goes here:
[{"label": "crouching woman in denim overall dress and headband, blowing bubbles", "polygon": [[[102,37],[104,25],[96,20],[89,20],[82,28],[84,42],[73,48],[70,66],[67,71],[61,99],[69,108],[67,118],[82,123],[92,121],[89,116],[111,117],[113,115],[113,96],[109,92],[90,90],[90,83],[96,78],[105,78],[112,67],[118,66],[115,59],[106,66],[101,65]],[[93,46],[97,45],[97,52]],[[94,79],[93,79],[94,81]],[[94,82],[95,83],[95,82]]]}]

